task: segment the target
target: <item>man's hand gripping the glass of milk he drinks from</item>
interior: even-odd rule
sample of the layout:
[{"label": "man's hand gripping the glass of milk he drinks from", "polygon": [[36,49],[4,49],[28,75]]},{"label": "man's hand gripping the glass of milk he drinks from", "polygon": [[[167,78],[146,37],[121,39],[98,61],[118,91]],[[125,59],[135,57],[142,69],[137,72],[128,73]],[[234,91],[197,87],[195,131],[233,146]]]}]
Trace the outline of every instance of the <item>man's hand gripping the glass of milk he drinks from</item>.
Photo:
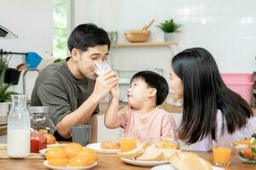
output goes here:
[{"label": "man's hand gripping the glass of milk he drinks from", "polygon": [[96,78],[96,84],[92,95],[100,101],[104,99],[110,92],[110,90],[118,85],[119,78],[117,74],[112,71],[106,71],[104,74]]}]

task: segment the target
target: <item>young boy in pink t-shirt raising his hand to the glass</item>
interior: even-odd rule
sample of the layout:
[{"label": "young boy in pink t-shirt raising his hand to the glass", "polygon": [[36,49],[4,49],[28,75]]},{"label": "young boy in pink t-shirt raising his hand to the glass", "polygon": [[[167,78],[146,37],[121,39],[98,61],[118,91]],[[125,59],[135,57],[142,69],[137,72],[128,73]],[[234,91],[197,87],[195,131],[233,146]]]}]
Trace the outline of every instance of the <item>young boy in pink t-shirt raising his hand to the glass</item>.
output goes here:
[{"label": "young boy in pink t-shirt raising his hand to the glass", "polygon": [[165,101],[168,91],[164,77],[153,71],[137,72],[131,78],[128,105],[120,111],[119,87],[111,90],[112,99],[105,115],[105,126],[123,127],[125,133],[135,133],[138,144],[145,139],[176,138],[177,127],[171,113],[157,107]]}]

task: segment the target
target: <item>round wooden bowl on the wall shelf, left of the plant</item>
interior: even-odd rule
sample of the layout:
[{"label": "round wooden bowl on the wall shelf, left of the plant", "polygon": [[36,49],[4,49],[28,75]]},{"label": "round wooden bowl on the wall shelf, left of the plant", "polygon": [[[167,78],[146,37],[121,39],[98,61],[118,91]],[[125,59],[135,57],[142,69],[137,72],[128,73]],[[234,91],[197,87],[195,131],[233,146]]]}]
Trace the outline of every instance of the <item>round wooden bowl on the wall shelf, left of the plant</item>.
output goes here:
[{"label": "round wooden bowl on the wall shelf, left of the plant", "polygon": [[148,30],[126,30],[125,37],[129,42],[147,42],[150,36]]}]

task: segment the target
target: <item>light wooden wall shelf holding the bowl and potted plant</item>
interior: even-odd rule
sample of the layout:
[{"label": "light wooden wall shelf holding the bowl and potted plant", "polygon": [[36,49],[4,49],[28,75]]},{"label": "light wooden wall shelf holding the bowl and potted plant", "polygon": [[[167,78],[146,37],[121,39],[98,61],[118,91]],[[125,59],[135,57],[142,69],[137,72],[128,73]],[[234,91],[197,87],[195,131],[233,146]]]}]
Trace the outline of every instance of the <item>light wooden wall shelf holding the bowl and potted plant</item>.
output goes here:
[{"label": "light wooden wall shelf holding the bowl and potted plant", "polygon": [[164,46],[177,46],[176,42],[125,42],[111,45],[112,47],[118,48],[129,48],[129,47],[164,47]]}]

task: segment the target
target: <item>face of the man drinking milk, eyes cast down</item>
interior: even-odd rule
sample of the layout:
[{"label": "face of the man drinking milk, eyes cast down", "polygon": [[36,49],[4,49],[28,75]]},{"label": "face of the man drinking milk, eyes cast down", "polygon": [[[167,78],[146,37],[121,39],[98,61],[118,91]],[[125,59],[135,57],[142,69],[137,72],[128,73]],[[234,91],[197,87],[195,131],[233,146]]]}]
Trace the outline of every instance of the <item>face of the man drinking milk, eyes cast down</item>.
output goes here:
[{"label": "face of the man drinking milk, eyes cast down", "polygon": [[99,45],[94,48],[88,48],[85,52],[80,52],[77,60],[78,70],[83,77],[96,80],[94,72],[95,62],[108,59],[108,45]]}]

